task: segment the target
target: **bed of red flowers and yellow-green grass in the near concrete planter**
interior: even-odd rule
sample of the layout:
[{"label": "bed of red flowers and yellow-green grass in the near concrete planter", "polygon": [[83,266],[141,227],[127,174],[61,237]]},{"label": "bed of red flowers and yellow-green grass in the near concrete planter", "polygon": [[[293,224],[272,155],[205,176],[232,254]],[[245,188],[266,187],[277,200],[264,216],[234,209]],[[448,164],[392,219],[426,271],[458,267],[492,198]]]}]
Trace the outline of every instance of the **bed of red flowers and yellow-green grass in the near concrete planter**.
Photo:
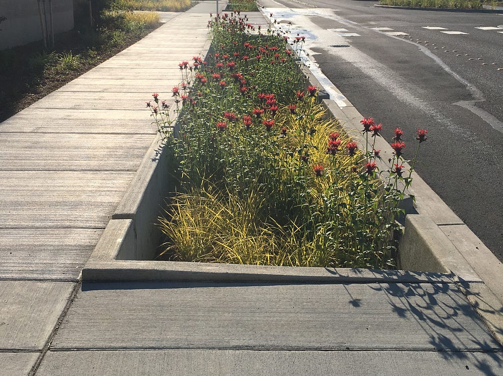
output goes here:
[{"label": "bed of red flowers and yellow-green grass in the near concrete planter", "polygon": [[[179,181],[160,218],[163,257],[392,268],[395,217],[411,173],[402,165],[401,131],[390,170],[379,172],[379,151],[360,151],[305,83],[286,48],[286,41],[301,48],[302,36],[263,32],[239,12],[217,14],[209,27],[207,60],[179,64],[182,83],[171,98],[177,129],[169,100],[154,93],[147,103]],[[382,126],[362,124],[372,145]]]}]

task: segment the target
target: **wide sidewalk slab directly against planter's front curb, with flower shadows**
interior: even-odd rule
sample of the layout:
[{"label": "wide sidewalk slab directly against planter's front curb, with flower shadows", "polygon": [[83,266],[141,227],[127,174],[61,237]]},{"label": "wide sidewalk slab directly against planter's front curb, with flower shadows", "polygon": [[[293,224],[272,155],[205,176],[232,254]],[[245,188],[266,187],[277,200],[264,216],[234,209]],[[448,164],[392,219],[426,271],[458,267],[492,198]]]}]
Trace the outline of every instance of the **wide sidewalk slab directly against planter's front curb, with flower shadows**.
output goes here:
[{"label": "wide sidewalk slab directly against planter's front curb, with flower shadows", "polygon": [[499,350],[452,284],[82,285],[52,349]]}]

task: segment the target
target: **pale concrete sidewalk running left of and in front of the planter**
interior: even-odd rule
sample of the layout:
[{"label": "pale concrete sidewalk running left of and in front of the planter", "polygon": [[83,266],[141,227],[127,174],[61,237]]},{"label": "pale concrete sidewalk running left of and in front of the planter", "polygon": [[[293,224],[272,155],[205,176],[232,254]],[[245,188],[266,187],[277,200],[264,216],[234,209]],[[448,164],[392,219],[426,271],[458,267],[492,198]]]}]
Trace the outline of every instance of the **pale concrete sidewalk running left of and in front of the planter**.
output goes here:
[{"label": "pale concrete sidewalk running left of and in front of the planter", "polygon": [[444,276],[79,282],[154,140],[145,102],[180,82],[177,64],[203,51],[214,9],[166,15],[146,38],[0,124],[0,376],[503,374],[501,347]]}]

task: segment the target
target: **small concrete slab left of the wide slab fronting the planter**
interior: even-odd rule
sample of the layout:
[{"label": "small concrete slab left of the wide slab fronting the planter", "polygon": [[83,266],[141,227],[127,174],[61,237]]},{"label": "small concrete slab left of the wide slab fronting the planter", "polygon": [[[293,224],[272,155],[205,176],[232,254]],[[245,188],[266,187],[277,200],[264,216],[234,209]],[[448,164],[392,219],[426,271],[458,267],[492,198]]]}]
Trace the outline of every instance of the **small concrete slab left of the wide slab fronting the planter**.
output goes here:
[{"label": "small concrete slab left of the wide slab fronting the planter", "polygon": [[0,350],[42,350],[74,283],[0,281]]}]

